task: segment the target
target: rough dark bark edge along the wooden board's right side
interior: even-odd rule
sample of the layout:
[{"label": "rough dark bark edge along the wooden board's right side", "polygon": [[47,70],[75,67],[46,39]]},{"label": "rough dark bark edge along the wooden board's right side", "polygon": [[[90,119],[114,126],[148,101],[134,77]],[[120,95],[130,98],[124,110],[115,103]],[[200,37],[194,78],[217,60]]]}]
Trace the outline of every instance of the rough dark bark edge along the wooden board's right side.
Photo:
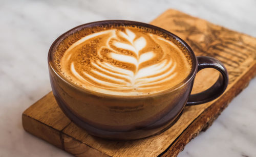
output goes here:
[{"label": "rough dark bark edge along the wooden board's right side", "polygon": [[[212,103],[206,110],[204,110],[180,136],[169,145],[159,156],[177,156],[185,145],[194,139],[201,131],[205,131],[218,118],[221,112],[228,106],[229,102],[245,89],[250,80],[256,75],[256,64],[252,65],[249,70],[243,74],[236,86],[232,86],[228,92],[224,93],[216,102]],[[244,83],[246,82],[246,83]]]}]

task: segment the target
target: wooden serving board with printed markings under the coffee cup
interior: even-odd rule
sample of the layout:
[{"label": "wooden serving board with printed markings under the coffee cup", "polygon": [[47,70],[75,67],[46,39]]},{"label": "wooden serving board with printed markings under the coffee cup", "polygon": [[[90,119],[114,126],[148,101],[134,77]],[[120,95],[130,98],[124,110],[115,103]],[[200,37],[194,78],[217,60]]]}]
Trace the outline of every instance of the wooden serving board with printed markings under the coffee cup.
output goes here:
[{"label": "wooden serving board with printed markings under the coffee cup", "polygon": [[[201,130],[206,130],[256,74],[256,39],[176,10],[151,22],[184,39],[197,56],[211,56],[228,69],[229,85],[218,99],[185,107],[180,119],[160,135],[134,141],[110,141],[88,135],[58,107],[52,92],[22,116],[24,129],[76,156],[177,156]],[[196,76],[193,93],[212,85],[219,73],[204,69]],[[200,151],[200,150],[197,150]]]}]

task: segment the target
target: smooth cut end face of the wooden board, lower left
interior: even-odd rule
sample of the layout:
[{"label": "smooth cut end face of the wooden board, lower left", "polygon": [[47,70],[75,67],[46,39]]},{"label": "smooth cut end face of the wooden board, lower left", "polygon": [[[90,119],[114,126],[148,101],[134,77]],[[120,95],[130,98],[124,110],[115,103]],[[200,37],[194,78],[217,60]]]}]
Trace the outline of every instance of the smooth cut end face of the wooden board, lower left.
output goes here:
[{"label": "smooth cut end face of the wooden board, lower left", "polygon": [[[50,92],[51,93],[51,92]],[[43,99],[42,97],[41,99]],[[39,99],[39,100],[41,100]],[[26,132],[33,136],[45,140],[52,145],[65,150],[66,152],[75,156],[102,156],[109,157],[109,155],[84,144],[81,141],[74,139],[73,137],[65,134],[62,130],[55,129],[45,123],[38,121],[30,117],[29,115],[22,114],[23,128]],[[68,125],[67,125],[68,126]],[[55,136],[52,136],[55,135]]]}]

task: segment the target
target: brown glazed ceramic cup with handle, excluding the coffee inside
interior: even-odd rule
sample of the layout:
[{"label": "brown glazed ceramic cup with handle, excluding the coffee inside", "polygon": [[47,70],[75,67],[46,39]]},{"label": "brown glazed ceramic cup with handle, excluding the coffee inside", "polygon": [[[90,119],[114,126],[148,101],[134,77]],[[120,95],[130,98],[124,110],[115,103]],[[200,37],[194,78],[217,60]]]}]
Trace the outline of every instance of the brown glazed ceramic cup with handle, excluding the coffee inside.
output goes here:
[{"label": "brown glazed ceramic cup with handle, excluding the coffee inside", "polygon": [[[137,25],[155,29],[175,38],[188,50],[192,58],[192,69],[184,81],[163,92],[118,96],[98,93],[75,85],[62,76],[53,62],[59,45],[75,32],[100,25]],[[78,39],[74,36],[72,42]],[[49,50],[48,64],[50,81],[55,99],[67,117],[85,129],[89,134],[107,139],[140,139],[160,133],[172,126],[182,114],[185,106],[201,104],[219,97],[228,85],[225,66],[210,57],[196,57],[193,50],[176,35],[151,24],[109,20],[79,25],[57,38]],[[220,72],[219,79],[209,89],[190,95],[196,73],[204,68]]]}]

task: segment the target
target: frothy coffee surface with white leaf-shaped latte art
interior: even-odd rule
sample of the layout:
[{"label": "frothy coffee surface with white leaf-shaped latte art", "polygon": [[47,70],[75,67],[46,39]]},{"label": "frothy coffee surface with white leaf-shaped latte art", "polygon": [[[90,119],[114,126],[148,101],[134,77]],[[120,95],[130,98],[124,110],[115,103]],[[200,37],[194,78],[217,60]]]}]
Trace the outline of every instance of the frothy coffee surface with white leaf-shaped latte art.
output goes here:
[{"label": "frothy coffee surface with white leaf-shaped latte art", "polygon": [[191,57],[172,40],[148,28],[116,26],[77,39],[57,64],[63,76],[88,90],[158,93],[181,83],[191,71]]}]

